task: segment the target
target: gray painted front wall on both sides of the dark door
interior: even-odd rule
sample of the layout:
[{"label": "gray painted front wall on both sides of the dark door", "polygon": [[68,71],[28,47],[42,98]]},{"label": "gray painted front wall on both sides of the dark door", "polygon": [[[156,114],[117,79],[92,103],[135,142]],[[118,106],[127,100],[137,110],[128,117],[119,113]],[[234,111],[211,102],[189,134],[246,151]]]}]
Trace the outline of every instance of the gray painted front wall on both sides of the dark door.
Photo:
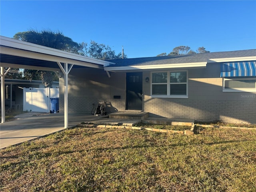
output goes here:
[{"label": "gray painted front wall on both sides of the dark door", "polygon": [[[142,109],[150,116],[190,118],[198,121],[256,123],[256,93],[222,92],[220,64],[207,64],[204,69],[188,70],[188,98],[151,98],[150,71],[143,72]],[[70,112],[88,112],[92,104],[104,100],[112,112],[126,108],[126,73],[104,70],[72,69],[69,74],[68,108]],[[60,112],[64,110],[64,81],[60,78]],[[121,99],[114,99],[114,95]]]}]

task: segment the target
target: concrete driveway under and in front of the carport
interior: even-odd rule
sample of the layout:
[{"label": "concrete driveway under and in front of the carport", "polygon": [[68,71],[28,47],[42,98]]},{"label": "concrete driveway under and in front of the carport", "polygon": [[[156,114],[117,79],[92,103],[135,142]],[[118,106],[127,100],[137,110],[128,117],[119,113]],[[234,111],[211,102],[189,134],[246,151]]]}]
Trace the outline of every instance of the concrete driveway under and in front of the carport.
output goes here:
[{"label": "concrete driveway under and in front of the carport", "polygon": [[[17,119],[0,124],[0,149],[64,129],[64,113],[28,112],[15,118]],[[68,127],[98,118],[100,116],[69,113]]]}]

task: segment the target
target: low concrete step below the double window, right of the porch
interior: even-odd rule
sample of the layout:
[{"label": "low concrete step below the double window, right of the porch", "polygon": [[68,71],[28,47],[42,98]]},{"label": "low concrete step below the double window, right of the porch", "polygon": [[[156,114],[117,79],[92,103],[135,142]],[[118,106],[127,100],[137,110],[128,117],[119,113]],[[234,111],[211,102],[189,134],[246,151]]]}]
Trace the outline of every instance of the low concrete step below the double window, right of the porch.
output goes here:
[{"label": "low concrete step below the double window, right of the porch", "polygon": [[142,123],[145,124],[160,124],[160,125],[185,125],[192,126],[194,124],[193,119],[169,119],[169,118],[156,118],[156,117],[148,117],[142,120]]}]

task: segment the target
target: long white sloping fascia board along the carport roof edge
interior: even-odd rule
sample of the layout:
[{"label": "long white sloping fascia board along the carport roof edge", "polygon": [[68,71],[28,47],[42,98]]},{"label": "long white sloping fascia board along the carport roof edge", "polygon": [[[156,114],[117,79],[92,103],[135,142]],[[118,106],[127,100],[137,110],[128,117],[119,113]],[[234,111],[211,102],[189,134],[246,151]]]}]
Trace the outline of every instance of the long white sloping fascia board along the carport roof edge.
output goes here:
[{"label": "long white sloping fascia board along the carport roof edge", "polygon": [[16,49],[22,49],[22,50],[38,52],[42,54],[48,54],[52,56],[69,58],[69,59],[89,62],[93,64],[100,64],[103,66],[109,66],[110,64],[115,64],[112,62],[90,58],[90,57],[86,57],[86,56],[82,56],[82,55],[78,55],[78,54],[74,54],[74,53],[70,53],[70,52],[66,52],[66,51],[62,51],[54,48],[49,48],[46,46],[37,45],[30,42],[24,42],[24,41],[12,39],[12,38],[7,38],[4,36],[0,36],[0,44],[2,46],[8,46]]}]

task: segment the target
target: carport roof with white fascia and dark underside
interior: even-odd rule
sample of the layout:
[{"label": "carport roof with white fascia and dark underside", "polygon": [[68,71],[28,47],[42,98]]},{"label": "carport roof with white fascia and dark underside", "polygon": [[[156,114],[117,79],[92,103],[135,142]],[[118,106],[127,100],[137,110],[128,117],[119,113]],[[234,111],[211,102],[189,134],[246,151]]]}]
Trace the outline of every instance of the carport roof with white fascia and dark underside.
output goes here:
[{"label": "carport roof with white fascia and dark underside", "polygon": [[73,68],[104,68],[113,62],[98,60],[54,48],[0,36],[1,66],[60,71],[57,62],[74,64]]}]

